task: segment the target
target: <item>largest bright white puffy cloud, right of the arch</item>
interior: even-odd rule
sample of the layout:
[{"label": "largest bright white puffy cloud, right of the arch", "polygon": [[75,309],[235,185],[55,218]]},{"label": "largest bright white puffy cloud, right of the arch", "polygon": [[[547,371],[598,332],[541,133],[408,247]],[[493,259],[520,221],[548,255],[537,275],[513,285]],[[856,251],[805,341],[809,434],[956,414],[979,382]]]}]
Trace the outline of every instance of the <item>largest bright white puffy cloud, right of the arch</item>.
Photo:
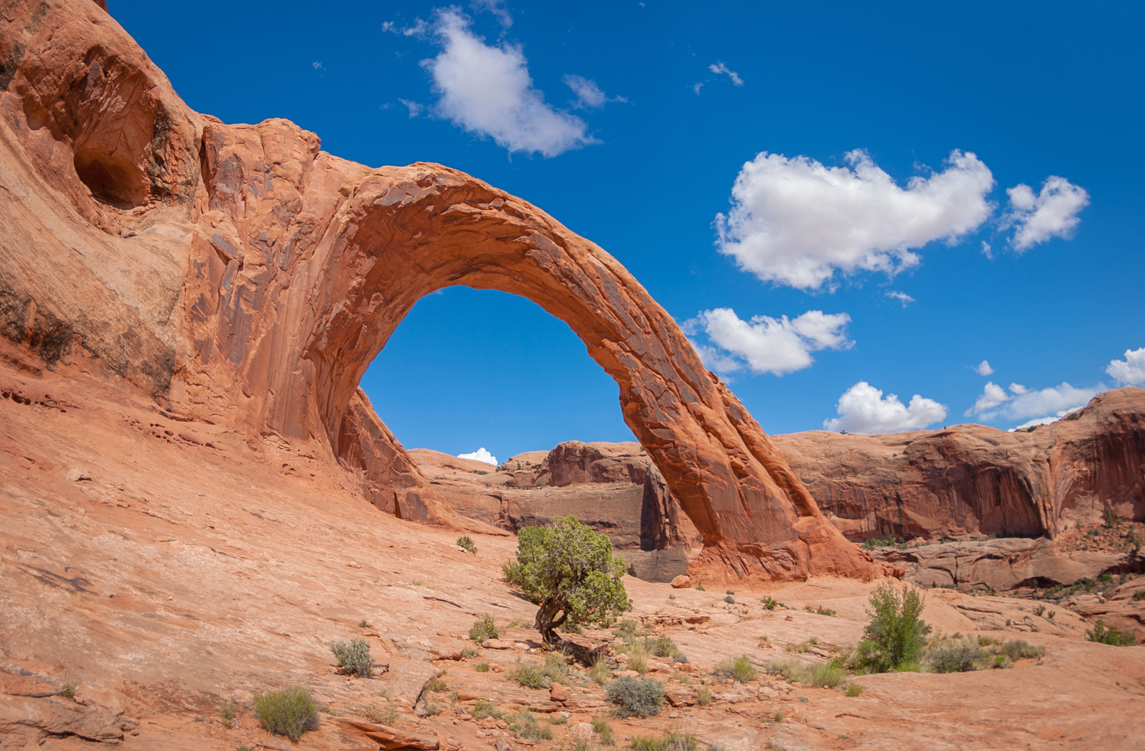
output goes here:
[{"label": "largest bright white puffy cloud, right of the arch", "polygon": [[743,165],[732,210],[716,218],[719,250],[765,282],[803,290],[836,274],[917,266],[933,240],[955,242],[994,211],[990,171],[973,153],[951,151],[942,172],[902,188],[866,151],[848,166],[763,152]]}]

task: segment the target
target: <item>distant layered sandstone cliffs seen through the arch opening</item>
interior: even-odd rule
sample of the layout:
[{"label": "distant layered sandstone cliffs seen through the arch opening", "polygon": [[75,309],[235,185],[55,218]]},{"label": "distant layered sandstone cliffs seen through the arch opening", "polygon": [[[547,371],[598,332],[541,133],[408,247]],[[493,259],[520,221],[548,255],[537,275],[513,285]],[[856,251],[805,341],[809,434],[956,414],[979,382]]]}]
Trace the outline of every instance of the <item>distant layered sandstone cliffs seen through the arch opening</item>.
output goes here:
[{"label": "distant layered sandstone cliffs seen through the arch opening", "polygon": [[575,514],[608,535],[646,582],[671,582],[703,547],[639,443],[568,441],[496,469],[427,449],[409,454],[451,511],[511,532]]}]

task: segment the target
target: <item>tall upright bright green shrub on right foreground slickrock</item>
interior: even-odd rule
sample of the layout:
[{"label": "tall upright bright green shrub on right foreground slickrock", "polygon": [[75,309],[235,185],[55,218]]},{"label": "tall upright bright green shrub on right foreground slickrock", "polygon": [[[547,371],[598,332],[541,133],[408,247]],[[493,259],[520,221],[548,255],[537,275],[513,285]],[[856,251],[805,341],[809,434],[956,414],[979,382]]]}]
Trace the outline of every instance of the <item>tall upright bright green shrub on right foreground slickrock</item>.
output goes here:
[{"label": "tall upright bright green shrub on right foreground slickrock", "polygon": [[852,659],[863,672],[882,673],[903,670],[918,663],[926,645],[930,626],[918,619],[924,599],[918,590],[894,591],[884,582],[870,595],[870,623],[863,630],[866,641],[859,643]]}]

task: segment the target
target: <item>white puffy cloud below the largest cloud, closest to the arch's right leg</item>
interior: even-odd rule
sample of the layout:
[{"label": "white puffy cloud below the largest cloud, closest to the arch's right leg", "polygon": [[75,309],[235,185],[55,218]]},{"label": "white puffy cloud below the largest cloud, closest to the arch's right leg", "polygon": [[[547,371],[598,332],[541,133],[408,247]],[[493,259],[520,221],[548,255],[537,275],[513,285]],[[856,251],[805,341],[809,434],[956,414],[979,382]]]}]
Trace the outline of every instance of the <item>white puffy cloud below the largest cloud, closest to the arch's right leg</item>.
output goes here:
[{"label": "white puffy cloud below the largest cloud, closest to the arch's right leg", "polygon": [[851,316],[808,310],[796,318],[753,316],[743,321],[731,308],[703,310],[682,324],[688,334],[704,333],[710,345],[694,345],[704,364],[717,372],[747,365],[753,373],[782,376],[814,362],[811,353],[843,349]]}]

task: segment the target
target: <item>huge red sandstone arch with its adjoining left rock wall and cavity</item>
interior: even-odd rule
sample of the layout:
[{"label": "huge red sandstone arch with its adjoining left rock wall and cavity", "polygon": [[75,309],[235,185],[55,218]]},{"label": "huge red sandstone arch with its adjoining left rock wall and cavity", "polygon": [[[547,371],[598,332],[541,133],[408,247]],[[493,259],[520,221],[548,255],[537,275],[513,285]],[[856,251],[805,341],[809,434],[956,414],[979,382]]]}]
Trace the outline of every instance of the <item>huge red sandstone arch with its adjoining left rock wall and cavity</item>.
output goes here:
[{"label": "huge red sandstone arch with its adjoining left rock wall and cavity", "polygon": [[172,414],[338,461],[403,519],[448,522],[357,384],[423,295],[502,290],[616,379],[703,539],[694,569],[878,574],[600,247],[440,165],[370,169],[285,120],[196,113],[97,3],[5,8],[0,332],[26,366],[105,373]]}]

